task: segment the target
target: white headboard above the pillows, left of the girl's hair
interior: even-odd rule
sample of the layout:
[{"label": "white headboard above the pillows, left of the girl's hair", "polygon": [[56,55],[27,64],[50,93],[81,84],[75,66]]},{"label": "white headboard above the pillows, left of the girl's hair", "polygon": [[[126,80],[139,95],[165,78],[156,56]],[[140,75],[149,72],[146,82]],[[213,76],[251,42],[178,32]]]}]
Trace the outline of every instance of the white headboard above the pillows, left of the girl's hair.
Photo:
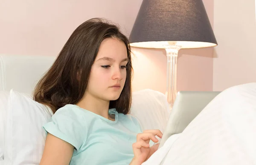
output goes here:
[{"label": "white headboard above the pillows, left of the girl's hair", "polygon": [[0,54],[0,91],[31,94],[56,57]]}]

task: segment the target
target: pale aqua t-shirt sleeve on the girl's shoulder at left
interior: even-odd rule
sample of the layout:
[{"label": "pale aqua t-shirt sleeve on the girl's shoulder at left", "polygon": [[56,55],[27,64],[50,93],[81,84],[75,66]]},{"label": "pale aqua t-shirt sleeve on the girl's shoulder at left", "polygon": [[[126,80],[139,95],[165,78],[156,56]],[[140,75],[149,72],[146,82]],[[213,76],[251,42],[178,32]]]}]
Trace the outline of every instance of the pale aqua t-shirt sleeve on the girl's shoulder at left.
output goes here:
[{"label": "pale aqua t-shirt sleeve on the girl's shoulder at left", "polygon": [[73,145],[73,155],[79,153],[79,148],[86,141],[87,125],[79,110],[60,108],[52,115],[52,121],[43,127],[47,134],[50,133]]}]

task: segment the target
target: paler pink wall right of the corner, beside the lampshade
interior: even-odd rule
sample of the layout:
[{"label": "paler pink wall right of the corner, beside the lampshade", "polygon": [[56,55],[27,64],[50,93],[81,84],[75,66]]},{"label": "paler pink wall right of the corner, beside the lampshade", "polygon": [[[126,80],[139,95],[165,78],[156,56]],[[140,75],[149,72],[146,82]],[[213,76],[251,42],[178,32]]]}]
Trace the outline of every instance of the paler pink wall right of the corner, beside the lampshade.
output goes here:
[{"label": "paler pink wall right of the corner, beside the lampshade", "polygon": [[256,82],[255,14],[255,0],[214,0],[213,90]]}]

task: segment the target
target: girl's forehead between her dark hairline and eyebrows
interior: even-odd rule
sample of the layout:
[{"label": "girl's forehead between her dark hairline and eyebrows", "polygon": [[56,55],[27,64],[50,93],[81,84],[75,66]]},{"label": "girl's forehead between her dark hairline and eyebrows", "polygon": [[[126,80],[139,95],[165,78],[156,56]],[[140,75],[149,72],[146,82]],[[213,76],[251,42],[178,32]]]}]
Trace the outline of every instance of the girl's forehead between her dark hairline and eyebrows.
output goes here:
[{"label": "girl's forehead between her dark hairline and eyebrows", "polygon": [[116,38],[107,38],[102,41],[96,60],[102,57],[113,59],[127,58],[127,49],[125,43]]}]

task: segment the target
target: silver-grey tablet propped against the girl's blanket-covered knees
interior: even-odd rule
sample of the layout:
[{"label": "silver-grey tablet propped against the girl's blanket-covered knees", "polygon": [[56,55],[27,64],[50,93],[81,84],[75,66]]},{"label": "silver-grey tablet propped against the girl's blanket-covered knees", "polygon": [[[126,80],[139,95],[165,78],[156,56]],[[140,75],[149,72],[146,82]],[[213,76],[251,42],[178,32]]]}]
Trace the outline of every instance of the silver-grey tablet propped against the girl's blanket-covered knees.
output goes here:
[{"label": "silver-grey tablet propped against the girl's blanket-covered knees", "polygon": [[173,134],[182,133],[219,93],[219,91],[179,91],[158,148],[162,147]]}]

